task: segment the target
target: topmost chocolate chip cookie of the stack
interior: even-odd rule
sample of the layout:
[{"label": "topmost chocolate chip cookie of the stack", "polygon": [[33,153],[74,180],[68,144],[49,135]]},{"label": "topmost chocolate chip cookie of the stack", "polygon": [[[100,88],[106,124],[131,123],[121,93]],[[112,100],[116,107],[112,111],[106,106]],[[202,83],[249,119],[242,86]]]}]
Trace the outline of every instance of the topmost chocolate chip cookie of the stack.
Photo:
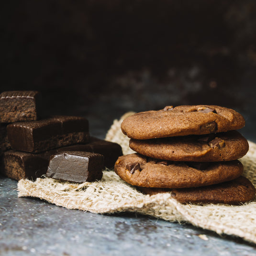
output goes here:
[{"label": "topmost chocolate chip cookie of the stack", "polygon": [[121,129],[129,138],[143,140],[227,132],[244,125],[243,116],[232,109],[214,105],[185,105],[136,113],[123,120]]}]

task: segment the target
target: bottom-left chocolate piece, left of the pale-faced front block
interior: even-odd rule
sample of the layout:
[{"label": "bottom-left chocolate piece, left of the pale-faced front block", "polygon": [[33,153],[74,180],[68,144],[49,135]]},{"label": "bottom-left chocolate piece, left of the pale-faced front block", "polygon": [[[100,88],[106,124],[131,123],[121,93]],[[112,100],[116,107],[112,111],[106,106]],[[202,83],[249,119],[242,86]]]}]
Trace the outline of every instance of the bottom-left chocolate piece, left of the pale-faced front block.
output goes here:
[{"label": "bottom-left chocolate piece, left of the pale-faced front block", "polygon": [[9,150],[2,156],[0,171],[8,178],[34,180],[46,173],[48,162],[48,159],[39,154]]}]

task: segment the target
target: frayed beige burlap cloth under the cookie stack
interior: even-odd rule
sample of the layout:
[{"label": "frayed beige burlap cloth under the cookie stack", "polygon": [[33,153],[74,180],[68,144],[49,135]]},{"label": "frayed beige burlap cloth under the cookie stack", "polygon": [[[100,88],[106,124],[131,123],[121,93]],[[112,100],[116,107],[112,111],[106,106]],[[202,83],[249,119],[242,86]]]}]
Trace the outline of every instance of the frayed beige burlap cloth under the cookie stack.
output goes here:
[{"label": "frayed beige burlap cloth under the cookie stack", "polygon": [[[106,140],[117,142],[123,153],[133,151],[129,140],[121,132],[120,120],[115,120],[106,135]],[[241,159],[244,176],[256,186],[256,144],[249,142],[250,150]],[[122,181],[113,170],[105,170],[98,182],[83,184],[60,182],[52,178],[37,178],[36,181],[20,180],[19,197],[37,197],[68,209],[79,209],[94,213],[137,212],[167,221],[192,223],[195,226],[232,234],[256,243],[256,202],[240,206],[223,204],[180,204],[170,193],[144,195]]]}]

